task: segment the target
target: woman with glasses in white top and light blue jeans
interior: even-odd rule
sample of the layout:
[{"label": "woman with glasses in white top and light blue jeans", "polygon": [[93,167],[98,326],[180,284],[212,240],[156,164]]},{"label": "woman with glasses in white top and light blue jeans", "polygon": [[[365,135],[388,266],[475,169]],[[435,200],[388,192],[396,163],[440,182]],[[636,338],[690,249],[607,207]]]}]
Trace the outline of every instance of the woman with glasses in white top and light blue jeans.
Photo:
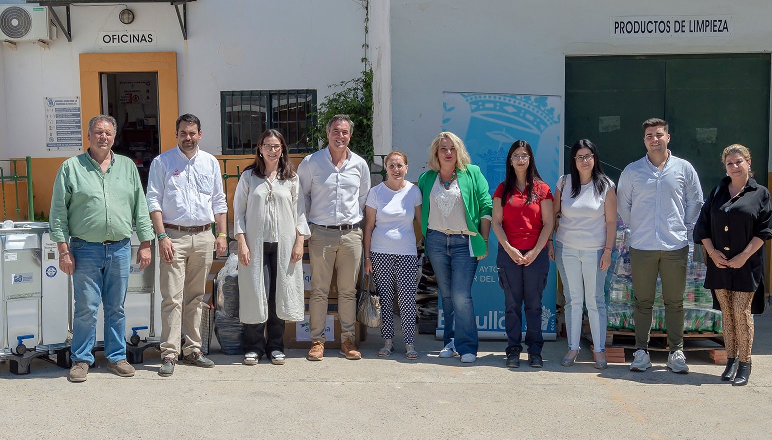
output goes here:
[{"label": "woman with glasses in white top and light blue jeans", "polygon": [[584,303],[594,344],[594,367],[605,368],[604,281],[616,234],[617,196],[591,141],[574,142],[568,157],[571,174],[560,177],[555,188],[553,208],[560,215],[560,227],[554,249],[550,249],[566,298],[568,352],[560,364],[573,365],[579,354]]}]

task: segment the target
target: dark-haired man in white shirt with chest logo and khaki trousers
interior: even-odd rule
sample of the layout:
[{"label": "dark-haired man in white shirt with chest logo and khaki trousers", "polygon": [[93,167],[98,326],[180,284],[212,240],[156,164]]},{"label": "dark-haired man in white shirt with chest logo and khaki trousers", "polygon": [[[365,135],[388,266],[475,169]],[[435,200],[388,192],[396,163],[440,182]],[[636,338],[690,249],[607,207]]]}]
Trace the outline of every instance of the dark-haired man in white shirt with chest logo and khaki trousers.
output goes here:
[{"label": "dark-haired man in white shirt with chest logo and khaki trousers", "polygon": [[[228,204],[220,164],[201,151],[201,121],[192,114],[177,120],[178,147],[153,160],[147,207],[161,262],[161,359],[158,374],[171,376],[182,354],[186,364],[214,367],[201,353],[201,300],[212,267],[212,252],[227,248]],[[212,222],[217,222],[217,238]],[[181,337],[185,347],[181,347]]]}]

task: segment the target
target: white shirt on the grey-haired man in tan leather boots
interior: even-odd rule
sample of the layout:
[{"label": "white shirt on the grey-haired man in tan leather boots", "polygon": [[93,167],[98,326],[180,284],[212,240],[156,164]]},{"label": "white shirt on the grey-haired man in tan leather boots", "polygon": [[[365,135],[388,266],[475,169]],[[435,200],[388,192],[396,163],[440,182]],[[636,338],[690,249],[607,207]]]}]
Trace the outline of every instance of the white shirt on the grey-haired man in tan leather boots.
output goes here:
[{"label": "white shirt on the grey-haired man in tan leather boots", "polygon": [[306,217],[317,225],[353,225],[364,218],[370,191],[370,168],[353,151],[340,169],[333,164],[330,147],[303,158],[297,168]]}]

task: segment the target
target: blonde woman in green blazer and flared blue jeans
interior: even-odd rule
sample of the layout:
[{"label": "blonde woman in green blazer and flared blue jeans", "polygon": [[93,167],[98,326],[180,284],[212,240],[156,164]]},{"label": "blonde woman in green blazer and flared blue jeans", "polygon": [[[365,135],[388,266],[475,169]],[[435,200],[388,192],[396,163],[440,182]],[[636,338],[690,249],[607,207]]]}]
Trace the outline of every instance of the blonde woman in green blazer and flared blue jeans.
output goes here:
[{"label": "blonde woman in green blazer and flared blue jeans", "polygon": [[493,202],[488,181],[458,136],[445,131],[429,147],[428,170],[418,178],[423,197],[422,232],[442,295],[445,347],[440,357],[477,357],[477,323],[472,280],[488,255]]}]

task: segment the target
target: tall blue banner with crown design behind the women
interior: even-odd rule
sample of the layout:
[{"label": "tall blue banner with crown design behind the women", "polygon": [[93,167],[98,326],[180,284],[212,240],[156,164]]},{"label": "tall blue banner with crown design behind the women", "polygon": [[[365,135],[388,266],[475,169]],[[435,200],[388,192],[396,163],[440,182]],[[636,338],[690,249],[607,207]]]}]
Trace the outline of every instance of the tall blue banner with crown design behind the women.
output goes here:
[{"label": "tall blue banner with crown design behind the women", "polygon": [[[527,140],[533,148],[539,174],[553,188],[560,170],[562,145],[560,96],[504,95],[490,93],[443,93],[442,130],[459,135],[466,144],[472,164],[485,175],[489,192],[504,180],[506,154],[515,140]],[[489,252],[477,266],[472,283],[477,329],[480,338],[506,339],[504,293],[496,267],[498,242],[493,230]],[[544,249],[543,252],[547,252]],[[556,268],[550,262],[547,287],[543,292],[541,331],[544,339],[557,337],[555,321]],[[437,337],[445,330],[442,297],[438,313]],[[523,314],[523,332],[525,331]]]}]

